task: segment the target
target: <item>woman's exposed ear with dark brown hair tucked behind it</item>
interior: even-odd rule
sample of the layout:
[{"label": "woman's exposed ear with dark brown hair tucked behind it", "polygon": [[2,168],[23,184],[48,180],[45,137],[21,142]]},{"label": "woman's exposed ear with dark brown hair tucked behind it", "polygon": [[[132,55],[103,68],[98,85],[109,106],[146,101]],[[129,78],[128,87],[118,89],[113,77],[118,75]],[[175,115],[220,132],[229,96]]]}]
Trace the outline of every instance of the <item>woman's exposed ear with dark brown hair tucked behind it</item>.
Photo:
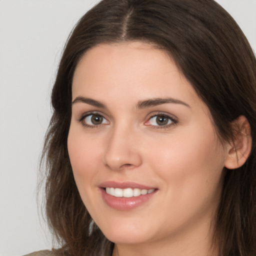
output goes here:
[{"label": "woman's exposed ear with dark brown hair tucked behind it", "polygon": [[240,115],[232,122],[233,138],[227,147],[225,167],[236,169],[243,165],[251,151],[252,138],[247,118]]}]

